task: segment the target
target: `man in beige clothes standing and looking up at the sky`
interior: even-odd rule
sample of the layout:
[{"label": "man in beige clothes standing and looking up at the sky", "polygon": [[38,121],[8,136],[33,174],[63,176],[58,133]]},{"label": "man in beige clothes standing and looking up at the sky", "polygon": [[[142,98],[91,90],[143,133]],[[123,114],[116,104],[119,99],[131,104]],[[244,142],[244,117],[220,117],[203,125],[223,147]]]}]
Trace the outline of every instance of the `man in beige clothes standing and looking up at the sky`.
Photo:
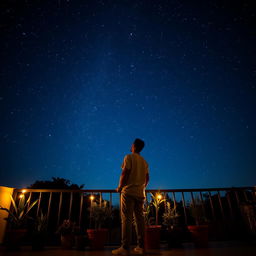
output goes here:
[{"label": "man in beige clothes standing and looking up at the sky", "polygon": [[135,139],[132,154],[126,155],[122,164],[122,174],[117,192],[121,192],[122,246],[112,251],[115,255],[128,255],[131,243],[132,220],[135,217],[138,245],[134,253],[144,253],[144,213],[145,188],[149,181],[148,164],[140,155],[144,141]]}]

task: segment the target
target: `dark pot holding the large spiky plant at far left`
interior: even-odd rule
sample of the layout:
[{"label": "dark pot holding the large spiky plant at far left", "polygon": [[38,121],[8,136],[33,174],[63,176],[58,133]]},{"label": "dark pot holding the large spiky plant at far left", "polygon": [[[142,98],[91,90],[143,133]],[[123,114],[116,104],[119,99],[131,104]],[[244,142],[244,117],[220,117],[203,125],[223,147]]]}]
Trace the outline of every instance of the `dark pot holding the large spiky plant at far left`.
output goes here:
[{"label": "dark pot holding the large spiky plant at far left", "polygon": [[5,245],[8,250],[19,250],[22,240],[27,233],[26,229],[10,229],[6,231]]}]

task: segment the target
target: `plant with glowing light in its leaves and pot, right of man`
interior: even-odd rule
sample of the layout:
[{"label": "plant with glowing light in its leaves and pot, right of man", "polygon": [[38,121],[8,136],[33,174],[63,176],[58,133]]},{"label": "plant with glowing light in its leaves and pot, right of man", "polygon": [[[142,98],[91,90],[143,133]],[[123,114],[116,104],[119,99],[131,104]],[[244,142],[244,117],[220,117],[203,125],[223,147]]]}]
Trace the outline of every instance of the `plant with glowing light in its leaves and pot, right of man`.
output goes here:
[{"label": "plant with glowing light in its leaves and pot, right of man", "polygon": [[[151,193],[152,202],[146,208],[145,212],[145,220],[146,220],[146,227],[145,227],[145,248],[146,249],[157,249],[160,247],[160,231],[161,226],[158,225],[159,219],[159,208],[160,205],[165,201],[162,194],[156,193],[153,195]],[[151,220],[149,218],[150,209],[151,207],[155,208],[155,225],[151,225]],[[147,223],[148,221],[148,223]]]}]

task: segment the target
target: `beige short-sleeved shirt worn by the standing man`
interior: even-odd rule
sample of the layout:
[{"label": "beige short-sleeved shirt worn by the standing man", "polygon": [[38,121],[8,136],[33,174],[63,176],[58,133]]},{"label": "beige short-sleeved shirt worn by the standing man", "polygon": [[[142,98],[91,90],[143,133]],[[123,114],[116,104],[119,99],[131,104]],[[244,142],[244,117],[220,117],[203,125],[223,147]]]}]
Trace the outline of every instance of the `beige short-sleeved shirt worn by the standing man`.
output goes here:
[{"label": "beige short-sleeved shirt worn by the standing man", "polygon": [[136,153],[126,155],[121,168],[131,170],[127,185],[123,187],[122,193],[145,198],[145,183],[148,173],[148,164],[145,159]]}]

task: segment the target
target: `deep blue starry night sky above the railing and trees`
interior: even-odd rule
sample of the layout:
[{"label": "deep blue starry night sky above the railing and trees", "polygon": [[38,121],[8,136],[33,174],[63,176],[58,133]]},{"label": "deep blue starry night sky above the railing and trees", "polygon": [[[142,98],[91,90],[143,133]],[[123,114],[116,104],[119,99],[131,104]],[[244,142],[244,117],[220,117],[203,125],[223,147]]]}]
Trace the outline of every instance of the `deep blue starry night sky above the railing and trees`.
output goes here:
[{"label": "deep blue starry night sky above the railing and trees", "polygon": [[0,185],[256,185],[253,1],[2,0]]}]

